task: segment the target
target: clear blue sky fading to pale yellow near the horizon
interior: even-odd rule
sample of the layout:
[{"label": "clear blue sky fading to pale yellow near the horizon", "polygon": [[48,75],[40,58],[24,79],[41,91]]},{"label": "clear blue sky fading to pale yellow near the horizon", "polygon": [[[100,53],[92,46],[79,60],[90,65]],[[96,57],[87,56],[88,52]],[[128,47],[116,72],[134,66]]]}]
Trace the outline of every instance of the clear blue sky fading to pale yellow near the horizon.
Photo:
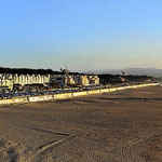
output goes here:
[{"label": "clear blue sky fading to pale yellow near the horizon", "polygon": [[162,68],[161,0],[1,0],[0,66]]}]

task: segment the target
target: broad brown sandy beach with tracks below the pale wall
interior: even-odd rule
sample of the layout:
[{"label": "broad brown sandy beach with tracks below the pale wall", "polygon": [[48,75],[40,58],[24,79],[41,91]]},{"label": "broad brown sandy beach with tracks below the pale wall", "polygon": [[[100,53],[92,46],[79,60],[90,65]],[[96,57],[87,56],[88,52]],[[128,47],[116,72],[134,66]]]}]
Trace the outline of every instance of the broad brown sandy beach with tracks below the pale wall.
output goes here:
[{"label": "broad brown sandy beach with tracks below the pale wall", "polygon": [[0,106],[0,162],[161,162],[162,87]]}]

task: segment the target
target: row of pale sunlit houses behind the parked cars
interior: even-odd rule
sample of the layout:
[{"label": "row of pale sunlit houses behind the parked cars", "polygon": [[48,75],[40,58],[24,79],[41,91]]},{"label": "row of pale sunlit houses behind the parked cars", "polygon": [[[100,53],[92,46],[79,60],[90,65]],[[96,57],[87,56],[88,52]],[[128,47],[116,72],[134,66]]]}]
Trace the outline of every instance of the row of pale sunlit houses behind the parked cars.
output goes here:
[{"label": "row of pale sunlit houses behind the parked cars", "polygon": [[27,84],[44,84],[49,85],[57,83],[60,86],[67,85],[96,85],[99,84],[99,78],[97,76],[86,75],[12,75],[0,73],[0,87],[13,90],[14,85],[19,84],[22,86]]}]

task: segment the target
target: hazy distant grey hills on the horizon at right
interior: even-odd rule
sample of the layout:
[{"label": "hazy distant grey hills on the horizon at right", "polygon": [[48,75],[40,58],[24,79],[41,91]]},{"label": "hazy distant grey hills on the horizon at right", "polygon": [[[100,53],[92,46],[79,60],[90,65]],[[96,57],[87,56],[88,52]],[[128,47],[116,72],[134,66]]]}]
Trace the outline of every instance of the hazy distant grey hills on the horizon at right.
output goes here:
[{"label": "hazy distant grey hills on the horizon at right", "polygon": [[158,68],[127,68],[127,69],[105,69],[98,71],[87,71],[87,73],[110,73],[110,75],[121,75],[121,71],[125,71],[126,75],[138,75],[138,76],[156,76],[162,77],[162,69]]}]

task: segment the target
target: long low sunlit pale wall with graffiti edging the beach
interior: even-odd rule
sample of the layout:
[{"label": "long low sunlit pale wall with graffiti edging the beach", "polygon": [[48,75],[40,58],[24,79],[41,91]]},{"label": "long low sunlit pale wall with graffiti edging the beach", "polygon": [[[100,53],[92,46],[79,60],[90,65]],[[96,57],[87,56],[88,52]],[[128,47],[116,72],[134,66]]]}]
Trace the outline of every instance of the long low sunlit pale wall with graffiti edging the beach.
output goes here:
[{"label": "long low sunlit pale wall with graffiti edging the beach", "polygon": [[54,95],[41,95],[41,96],[31,96],[31,97],[1,99],[0,105],[16,104],[16,103],[43,102],[43,100],[55,100],[55,99],[67,99],[67,98],[83,96],[83,95],[110,93],[110,92],[122,91],[122,90],[127,90],[127,89],[137,89],[137,87],[156,86],[156,85],[160,85],[160,83],[148,83],[148,84],[129,85],[129,86],[110,87],[110,89],[98,89],[98,90],[91,90],[91,91],[83,91],[83,92],[54,94]]}]

